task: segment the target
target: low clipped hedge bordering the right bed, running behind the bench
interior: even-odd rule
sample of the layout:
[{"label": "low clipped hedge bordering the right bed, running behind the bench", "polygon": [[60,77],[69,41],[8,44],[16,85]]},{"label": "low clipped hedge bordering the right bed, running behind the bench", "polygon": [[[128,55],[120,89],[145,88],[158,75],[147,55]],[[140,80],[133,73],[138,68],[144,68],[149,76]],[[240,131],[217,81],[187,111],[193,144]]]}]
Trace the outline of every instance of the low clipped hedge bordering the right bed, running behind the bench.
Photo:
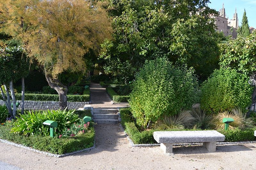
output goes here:
[{"label": "low clipped hedge bordering the right bed, running behind the bench", "polygon": [[[156,140],[153,137],[154,131],[166,131],[166,130],[158,130],[151,129],[140,131],[135,123],[134,119],[131,115],[130,108],[123,108],[120,110],[121,115],[121,124],[124,127],[125,132],[132,139],[134,144],[156,144]],[[201,130],[201,129],[172,129],[172,131],[177,130]],[[225,135],[225,142],[240,142],[240,141],[254,141],[254,130],[256,128],[251,129],[233,129],[233,130],[224,130],[218,129],[217,131]]]}]

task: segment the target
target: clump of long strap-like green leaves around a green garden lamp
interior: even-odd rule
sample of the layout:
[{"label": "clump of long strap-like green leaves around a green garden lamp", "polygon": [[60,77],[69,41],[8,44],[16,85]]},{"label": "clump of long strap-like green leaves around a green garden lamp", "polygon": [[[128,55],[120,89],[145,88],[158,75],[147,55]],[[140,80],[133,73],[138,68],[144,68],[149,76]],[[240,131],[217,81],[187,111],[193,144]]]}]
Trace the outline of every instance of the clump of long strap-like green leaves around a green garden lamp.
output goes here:
[{"label": "clump of long strap-like green leaves around a green garden lamp", "polygon": [[55,133],[60,135],[65,128],[78,120],[78,115],[75,110],[47,110],[47,111],[28,111],[23,115],[19,115],[17,120],[13,122],[12,132],[26,136],[50,134],[50,127],[43,125],[46,120],[56,121],[58,127],[55,128]]}]

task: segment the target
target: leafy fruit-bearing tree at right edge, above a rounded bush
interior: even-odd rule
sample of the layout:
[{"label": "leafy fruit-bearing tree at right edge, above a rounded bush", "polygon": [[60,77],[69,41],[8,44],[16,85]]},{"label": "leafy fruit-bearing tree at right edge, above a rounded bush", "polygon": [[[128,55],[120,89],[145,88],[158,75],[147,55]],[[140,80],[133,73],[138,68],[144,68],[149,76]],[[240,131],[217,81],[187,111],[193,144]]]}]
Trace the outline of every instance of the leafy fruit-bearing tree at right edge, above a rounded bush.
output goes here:
[{"label": "leafy fruit-bearing tree at right edge, above a rounded bush", "polygon": [[256,101],[256,32],[248,37],[239,36],[230,39],[228,43],[220,44],[220,66],[223,68],[234,68],[239,72],[251,77],[255,85],[252,94],[252,102]]}]

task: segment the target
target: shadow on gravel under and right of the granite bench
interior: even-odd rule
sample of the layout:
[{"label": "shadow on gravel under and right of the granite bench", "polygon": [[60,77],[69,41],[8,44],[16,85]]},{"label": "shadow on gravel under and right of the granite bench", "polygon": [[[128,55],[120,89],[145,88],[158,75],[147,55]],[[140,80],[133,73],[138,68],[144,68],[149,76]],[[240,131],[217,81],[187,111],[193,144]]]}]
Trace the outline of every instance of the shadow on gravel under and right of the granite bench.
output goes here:
[{"label": "shadow on gravel under and right of the granite bench", "polygon": [[[244,145],[217,145],[216,152],[239,152],[252,151],[252,149]],[[204,146],[174,146],[172,149],[174,154],[200,154],[209,153]]]}]

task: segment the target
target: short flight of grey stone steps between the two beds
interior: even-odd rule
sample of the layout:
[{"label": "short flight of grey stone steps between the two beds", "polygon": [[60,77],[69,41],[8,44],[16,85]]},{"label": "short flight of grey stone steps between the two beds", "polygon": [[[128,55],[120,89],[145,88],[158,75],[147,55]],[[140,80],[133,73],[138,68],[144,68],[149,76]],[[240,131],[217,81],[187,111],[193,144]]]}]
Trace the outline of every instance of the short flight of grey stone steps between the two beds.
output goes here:
[{"label": "short flight of grey stone steps between the two beds", "polygon": [[98,124],[116,124],[119,123],[117,108],[94,108],[93,121]]}]

